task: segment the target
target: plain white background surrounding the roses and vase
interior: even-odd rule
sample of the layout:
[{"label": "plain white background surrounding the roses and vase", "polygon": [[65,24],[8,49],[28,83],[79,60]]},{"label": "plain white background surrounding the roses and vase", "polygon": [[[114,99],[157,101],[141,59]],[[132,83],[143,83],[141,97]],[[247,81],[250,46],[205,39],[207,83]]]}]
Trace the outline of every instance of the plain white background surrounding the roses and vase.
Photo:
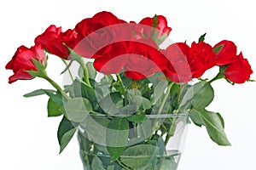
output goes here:
[{"label": "plain white background surrounding the roses and vase", "polygon": [[[32,46],[34,37],[50,24],[62,26],[65,31],[102,10],[111,11],[127,21],[139,21],[154,14],[165,15],[172,27],[170,38],[174,42],[197,41],[205,32],[206,41],[212,45],[223,39],[232,40],[256,71],[253,0],[1,1],[0,169],[82,170],[76,138],[58,155],[56,132],[60,118],[47,117],[47,97],[22,97],[34,89],[51,88],[49,84],[34,79],[9,85],[8,77],[12,72],[5,71],[4,66],[16,48],[22,44]],[[59,59],[49,59],[49,75],[59,83],[61,64]],[[256,79],[255,74],[252,79]],[[256,169],[256,82],[233,87],[218,81],[213,87],[215,99],[209,109],[224,116],[225,131],[232,146],[218,146],[208,138],[204,127],[190,125],[179,170]]]}]

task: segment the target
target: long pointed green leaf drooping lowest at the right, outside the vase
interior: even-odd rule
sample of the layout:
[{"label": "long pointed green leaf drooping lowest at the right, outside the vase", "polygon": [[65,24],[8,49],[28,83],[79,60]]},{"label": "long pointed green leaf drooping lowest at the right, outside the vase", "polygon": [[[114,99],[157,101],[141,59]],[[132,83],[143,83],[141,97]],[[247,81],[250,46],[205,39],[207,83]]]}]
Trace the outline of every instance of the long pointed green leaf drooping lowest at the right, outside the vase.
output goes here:
[{"label": "long pointed green leaf drooping lowest at the right, outside the vase", "polygon": [[230,142],[224,133],[223,118],[219,114],[211,111],[199,111],[195,109],[193,109],[193,114],[197,117],[201,117],[202,122],[196,123],[203,123],[203,125],[207,127],[207,133],[209,134],[212,141],[218,145],[230,145]]}]

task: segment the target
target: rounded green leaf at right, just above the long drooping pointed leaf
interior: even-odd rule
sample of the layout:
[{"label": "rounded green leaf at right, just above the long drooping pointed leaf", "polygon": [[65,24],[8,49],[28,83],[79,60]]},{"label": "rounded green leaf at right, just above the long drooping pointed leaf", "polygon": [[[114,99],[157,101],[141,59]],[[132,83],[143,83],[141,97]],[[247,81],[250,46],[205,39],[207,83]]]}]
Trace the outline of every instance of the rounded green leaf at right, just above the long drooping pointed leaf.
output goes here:
[{"label": "rounded green leaf at right, just above the long drooping pointed leaf", "polygon": [[198,82],[193,86],[193,89],[192,105],[196,109],[201,110],[211,104],[214,98],[214,91],[210,83]]}]

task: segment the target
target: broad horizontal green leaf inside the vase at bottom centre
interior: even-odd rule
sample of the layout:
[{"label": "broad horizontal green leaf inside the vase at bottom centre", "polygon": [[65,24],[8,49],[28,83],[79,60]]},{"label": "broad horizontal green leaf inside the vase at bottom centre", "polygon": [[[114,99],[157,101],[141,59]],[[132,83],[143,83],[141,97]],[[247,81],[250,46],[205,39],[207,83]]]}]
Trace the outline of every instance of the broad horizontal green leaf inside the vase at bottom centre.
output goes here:
[{"label": "broad horizontal green leaf inside the vase at bottom centre", "polygon": [[127,167],[137,169],[147,167],[152,158],[159,153],[159,148],[152,144],[137,144],[124,150],[120,160]]}]

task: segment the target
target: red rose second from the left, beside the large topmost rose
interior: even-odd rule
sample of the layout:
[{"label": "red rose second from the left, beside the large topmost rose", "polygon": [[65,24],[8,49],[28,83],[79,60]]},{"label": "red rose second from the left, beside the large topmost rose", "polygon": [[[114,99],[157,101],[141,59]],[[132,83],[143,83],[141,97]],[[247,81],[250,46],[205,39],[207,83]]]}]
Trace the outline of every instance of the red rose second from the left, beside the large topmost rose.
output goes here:
[{"label": "red rose second from the left, beside the large topmost rose", "polygon": [[68,59],[70,54],[68,47],[73,48],[74,39],[77,36],[73,30],[67,30],[61,32],[61,27],[54,25],[49,26],[43,34],[39,35],[35,39],[36,44],[42,44],[43,47],[51,54],[55,54],[62,59]]}]

